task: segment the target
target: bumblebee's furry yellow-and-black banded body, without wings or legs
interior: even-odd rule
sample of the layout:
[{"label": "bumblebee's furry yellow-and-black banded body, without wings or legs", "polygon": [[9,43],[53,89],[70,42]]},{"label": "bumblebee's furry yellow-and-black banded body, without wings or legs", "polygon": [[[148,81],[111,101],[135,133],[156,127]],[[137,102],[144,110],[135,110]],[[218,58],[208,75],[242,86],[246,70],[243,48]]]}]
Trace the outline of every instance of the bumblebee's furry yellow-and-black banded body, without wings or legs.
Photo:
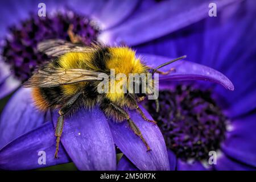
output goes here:
[{"label": "bumblebee's furry yellow-and-black banded body, without wings or legs", "polygon": [[[46,65],[47,67],[53,69],[86,69],[106,74],[110,73],[110,69],[115,69],[116,74],[124,73],[127,76],[129,73],[146,72],[146,67],[135,57],[135,52],[127,47],[97,46],[93,52],[69,52],[60,56],[59,59],[53,60]],[[129,101],[129,98],[125,97],[125,93],[104,93],[99,96],[97,92],[98,83],[98,81],[79,82],[49,88],[34,88],[33,97],[36,106],[43,110],[63,105],[73,94],[80,90],[83,91],[80,98],[82,98],[83,106],[86,109],[93,107],[102,97],[117,105],[124,106],[127,103],[129,107],[134,107],[130,102],[126,102],[126,100]],[[119,118],[117,119],[119,120]]]}]

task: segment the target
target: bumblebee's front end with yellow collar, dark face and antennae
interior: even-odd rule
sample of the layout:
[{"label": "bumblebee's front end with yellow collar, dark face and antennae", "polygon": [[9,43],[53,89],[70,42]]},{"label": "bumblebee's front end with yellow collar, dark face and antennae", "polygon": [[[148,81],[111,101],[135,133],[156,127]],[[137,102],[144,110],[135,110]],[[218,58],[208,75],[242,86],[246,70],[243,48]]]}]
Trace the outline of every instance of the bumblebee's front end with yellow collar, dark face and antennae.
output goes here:
[{"label": "bumblebee's front end with yellow collar, dark face and antennae", "polygon": [[[154,69],[149,69],[129,47],[110,47],[109,53],[111,56],[106,61],[106,68],[110,70],[110,77],[115,75],[114,81],[109,82],[110,92],[106,94],[109,100],[113,102],[123,100],[125,93],[135,94],[137,100],[143,100],[145,97],[150,99],[151,96],[154,96],[151,99],[156,102],[156,110],[158,110],[158,92],[157,97],[155,96],[158,89],[155,88],[155,85],[158,84],[158,79],[155,78],[158,78],[158,75],[155,73],[159,68],[186,57],[178,57]],[[113,72],[114,74],[112,74]]]}]

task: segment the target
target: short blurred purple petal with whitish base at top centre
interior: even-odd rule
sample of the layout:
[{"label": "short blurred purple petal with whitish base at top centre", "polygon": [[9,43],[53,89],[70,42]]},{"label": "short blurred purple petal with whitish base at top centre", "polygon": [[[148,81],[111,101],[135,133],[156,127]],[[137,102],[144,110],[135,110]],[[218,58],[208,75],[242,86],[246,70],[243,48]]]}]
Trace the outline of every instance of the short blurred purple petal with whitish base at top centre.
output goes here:
[{"label": "short blurred purple petal with whitish base at top centre", "polygon": [[96,15],[98,21],[105,29],[111,28],[133,13],[138,0],[108,1],[104,8]]}]

